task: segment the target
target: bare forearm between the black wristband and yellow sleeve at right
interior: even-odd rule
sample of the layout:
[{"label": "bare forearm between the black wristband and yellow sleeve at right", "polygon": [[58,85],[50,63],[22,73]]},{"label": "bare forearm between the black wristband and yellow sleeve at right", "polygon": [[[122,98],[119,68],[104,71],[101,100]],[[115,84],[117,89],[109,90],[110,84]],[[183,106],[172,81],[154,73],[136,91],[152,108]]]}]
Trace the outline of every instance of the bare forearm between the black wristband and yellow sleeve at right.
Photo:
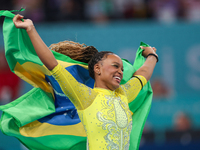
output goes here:
[{"label": "bare forearm between the black wristband and yellow sleeve at right", "polygon": [[142,75],[148,81],[152,74],[153,70],[156,66],[157,59],[155,56],[148,56],[145,63],[133,74],[134,75]]}]

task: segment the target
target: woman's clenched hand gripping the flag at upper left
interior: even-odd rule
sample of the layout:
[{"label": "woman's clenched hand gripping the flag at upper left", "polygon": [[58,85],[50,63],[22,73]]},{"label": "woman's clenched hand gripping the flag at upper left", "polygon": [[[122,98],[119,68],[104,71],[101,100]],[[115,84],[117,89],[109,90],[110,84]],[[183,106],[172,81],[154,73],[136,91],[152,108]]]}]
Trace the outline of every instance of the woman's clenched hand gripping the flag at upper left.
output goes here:
[{"label": "woman's clenched hand gripping the flag at upper left", "polygon": [[[13,23],[15,24],[16,28],[22,28],[26,31],[30,31],[32,28],[34,28],[33,22],[30,19],[23,19],[24,17],[17,14],[13,18]],[[23,21],[22,21],[23,19]]]}]

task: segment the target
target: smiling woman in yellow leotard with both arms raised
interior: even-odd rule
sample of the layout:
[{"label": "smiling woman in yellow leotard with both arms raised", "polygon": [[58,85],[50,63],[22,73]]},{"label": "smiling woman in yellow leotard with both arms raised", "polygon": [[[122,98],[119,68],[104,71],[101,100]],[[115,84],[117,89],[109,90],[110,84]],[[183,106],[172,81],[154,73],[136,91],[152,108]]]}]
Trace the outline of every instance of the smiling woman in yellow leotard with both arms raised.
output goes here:
[{"label": "smiling woman in yellow leotard with both arms raised", "polygon": [[128,149],[132,118],[128,103],[134,100],[142,87],[150,79],[158,61],[156,49],[142,47],[147,57],[144,65],[133,78],[120,86],[123,77],[123,63],[112,52],[96,53],[90,60],[89,73],[95,79],[91,89],[79,82],[54,58],[44,44],[31,20],[21,21],[16,15],[13,22],[17,28],[24,28],[35,48],[38,57],[52,72],[62,91],[76,106],[89,141],[89,149]]}]

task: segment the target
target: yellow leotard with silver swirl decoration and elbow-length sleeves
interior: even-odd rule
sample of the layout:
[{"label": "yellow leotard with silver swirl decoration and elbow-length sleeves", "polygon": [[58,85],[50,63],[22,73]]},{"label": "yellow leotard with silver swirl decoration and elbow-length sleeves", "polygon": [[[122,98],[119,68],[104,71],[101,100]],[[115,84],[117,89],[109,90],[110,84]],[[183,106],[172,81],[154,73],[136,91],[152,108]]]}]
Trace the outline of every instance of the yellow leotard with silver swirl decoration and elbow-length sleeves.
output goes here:
[{"label": "yellow leotard with silver swirl decoration and elbow-length sleeves", "polygon": [[[143,76],[131,78],[115,91],[81,84],[60,64],[52,71],[63,92],[77,108],[90,150],[128,150],[132,117],[128,103],[146,84]],[[140,78],[140,80],[138,79]]]}]

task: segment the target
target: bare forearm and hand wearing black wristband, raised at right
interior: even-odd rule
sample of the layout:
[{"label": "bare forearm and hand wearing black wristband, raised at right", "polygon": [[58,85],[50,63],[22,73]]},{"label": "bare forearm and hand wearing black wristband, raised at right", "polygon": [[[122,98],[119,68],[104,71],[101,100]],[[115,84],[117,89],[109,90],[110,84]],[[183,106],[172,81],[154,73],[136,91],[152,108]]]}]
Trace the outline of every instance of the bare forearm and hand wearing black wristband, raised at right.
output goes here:
[{"label": "bare forearm and hand wearing black wristband, raised at right", "polygon": [[147,59],[146,59],[145,63],[133,74],[133,76],[141,75],[141,76],[145,77],[146,80],[148,81],[153,74],[153,70],[154,70],[154,68],[156,66],[156,62],[158,60],[158,55],[156,54],[156,48],[154,48],[154,47],[152,48],[152,47],[141,46],[141,48],[144,49],[142,55],[144,57],[147,57]]}]

